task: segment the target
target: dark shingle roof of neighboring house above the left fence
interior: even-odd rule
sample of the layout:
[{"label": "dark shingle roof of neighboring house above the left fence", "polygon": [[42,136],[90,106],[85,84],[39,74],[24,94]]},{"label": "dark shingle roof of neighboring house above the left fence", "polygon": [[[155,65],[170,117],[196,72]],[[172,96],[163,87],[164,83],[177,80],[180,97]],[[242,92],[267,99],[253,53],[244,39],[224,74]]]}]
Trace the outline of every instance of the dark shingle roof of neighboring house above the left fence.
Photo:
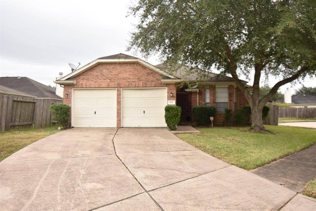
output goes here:
[{"label": "dark shingle roof of neighboring house above the left fence", "polygon": [[0,84],[37,98],[61,99],[55,94],[55,89],[27,77],[0,77]]}]

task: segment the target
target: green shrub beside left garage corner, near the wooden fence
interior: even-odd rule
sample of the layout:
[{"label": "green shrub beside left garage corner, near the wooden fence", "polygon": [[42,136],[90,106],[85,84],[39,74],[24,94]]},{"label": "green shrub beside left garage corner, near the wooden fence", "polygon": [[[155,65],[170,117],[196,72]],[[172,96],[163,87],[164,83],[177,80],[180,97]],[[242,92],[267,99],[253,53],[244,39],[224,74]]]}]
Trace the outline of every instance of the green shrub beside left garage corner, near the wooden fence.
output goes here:
[{"label": "green shrub beside left garage corner, near the wooden fence", "polygon": [[52,119],[63,125],[64,129],[69,126],[69,110],[70,106],[65,104],[53,104],[49,107],[52,113]]}]

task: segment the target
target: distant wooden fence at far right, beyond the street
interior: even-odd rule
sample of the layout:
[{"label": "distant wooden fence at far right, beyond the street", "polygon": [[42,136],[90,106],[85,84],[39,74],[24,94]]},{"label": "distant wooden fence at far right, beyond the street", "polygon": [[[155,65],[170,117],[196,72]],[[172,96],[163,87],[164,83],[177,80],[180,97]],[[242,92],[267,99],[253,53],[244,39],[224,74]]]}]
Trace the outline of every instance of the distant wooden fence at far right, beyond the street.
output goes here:
[{"label": "distant wooden fence at far right, beyond the street", "polygon": [[316,118],[316,108],[279,108],[279,118]]}]

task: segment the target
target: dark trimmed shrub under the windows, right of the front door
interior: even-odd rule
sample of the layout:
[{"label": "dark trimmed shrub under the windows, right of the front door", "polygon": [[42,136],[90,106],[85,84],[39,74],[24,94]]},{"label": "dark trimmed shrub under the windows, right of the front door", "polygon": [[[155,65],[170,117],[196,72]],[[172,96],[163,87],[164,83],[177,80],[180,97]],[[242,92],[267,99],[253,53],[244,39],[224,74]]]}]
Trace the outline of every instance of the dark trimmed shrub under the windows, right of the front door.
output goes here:
[{"label": "dark trimmed shrub under the windows, right of the front door", "polygon": [[192,108],[192,115],[197,120],[197,125],[211,124],[210,117],[215,118],[216,108],[213,106],[194,106]]}]

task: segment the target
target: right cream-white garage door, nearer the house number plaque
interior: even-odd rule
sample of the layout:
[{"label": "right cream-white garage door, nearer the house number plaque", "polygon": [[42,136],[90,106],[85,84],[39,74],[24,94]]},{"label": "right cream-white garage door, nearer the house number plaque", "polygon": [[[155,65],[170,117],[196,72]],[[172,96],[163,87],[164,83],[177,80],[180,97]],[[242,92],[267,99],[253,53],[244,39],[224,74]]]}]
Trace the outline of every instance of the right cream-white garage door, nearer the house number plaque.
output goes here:
[{"label": "right cream-white garage door, nearer the house number plaque", "polygon": [[122,127],[166,127],[167,88],[122,89]]}]

